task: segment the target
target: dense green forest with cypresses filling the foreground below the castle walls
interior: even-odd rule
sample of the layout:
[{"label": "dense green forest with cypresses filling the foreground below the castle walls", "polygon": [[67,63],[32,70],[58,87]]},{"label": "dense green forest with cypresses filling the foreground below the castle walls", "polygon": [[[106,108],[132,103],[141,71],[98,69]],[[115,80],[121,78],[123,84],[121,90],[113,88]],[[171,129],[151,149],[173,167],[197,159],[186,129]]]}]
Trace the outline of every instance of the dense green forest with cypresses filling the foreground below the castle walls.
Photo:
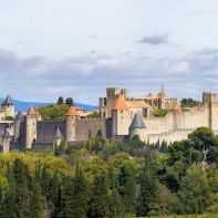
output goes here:
[{"label": "dense green forest with cypresses filling the foreground below the castle walls", "polygon": [[166,143],[106,141],[54,153],[0,155],[1,218],[218,215],[218,136],[206,127]]}]

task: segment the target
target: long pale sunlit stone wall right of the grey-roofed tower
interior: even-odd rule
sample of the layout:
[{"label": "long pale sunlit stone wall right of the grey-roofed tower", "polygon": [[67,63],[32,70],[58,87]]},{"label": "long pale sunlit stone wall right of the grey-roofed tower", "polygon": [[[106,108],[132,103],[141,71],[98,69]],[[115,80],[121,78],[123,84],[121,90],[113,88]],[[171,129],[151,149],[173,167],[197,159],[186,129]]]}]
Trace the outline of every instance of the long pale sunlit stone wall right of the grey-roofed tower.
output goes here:
[{"label": "long pale sunlit stone wall right of the grey-roofed tower", "polygon": [[142,141],[156,143],[186,139],[188,134],[200,126],[210,127],[218,134],[218,104],[205,105],[197,111],[168,113],[165,117],[143,120],[146,128],[135,132]]}]

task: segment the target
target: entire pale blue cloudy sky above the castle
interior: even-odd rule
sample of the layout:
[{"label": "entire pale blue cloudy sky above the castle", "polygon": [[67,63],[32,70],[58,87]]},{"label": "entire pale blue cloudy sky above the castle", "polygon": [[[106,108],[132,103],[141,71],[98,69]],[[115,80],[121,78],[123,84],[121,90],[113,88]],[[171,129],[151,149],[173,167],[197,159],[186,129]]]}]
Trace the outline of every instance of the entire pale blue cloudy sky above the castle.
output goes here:
[{"label": "entire pale blue cloudy sky above the castle", "polygon": [[218,92],[217,0],[0,0],[0,96],[97,104]]}]

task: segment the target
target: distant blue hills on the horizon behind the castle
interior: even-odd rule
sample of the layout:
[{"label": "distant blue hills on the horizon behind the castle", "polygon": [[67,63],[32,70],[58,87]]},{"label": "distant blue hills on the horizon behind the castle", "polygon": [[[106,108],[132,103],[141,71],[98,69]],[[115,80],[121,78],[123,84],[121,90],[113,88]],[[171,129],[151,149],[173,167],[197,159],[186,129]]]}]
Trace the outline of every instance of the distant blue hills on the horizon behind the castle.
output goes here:
[{"label": "distant blue hills on the horizon behind the castle", "polygon": [[[0,97],[0,104],[2,102],[3,102],[3,98]],[[15,101],[15,100],[13,100],[13,103],[15,105],[15,111],[22,110],[23,112],[28,112],[30,106],[39,107],[39,106],[43,106],[43,105],[53,104],[53,103],[39,103],[39,102],[22,102],[22,101]],[[92,106],[92,105],[81,104],[81,103],[75,103],[75,106],[84,108],[86,112],[98,108],[97,106]]]}]

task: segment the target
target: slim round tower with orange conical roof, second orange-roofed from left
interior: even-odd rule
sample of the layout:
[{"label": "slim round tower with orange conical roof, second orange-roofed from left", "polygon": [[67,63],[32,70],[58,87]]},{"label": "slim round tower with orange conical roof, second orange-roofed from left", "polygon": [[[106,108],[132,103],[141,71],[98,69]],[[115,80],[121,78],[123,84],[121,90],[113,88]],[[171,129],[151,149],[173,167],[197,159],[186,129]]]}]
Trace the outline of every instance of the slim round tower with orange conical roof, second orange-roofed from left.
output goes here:
[{"label": "slim round tower with orange conical roof, second orange-roofed from left", "polygon": [[66,143],[75,142],[75,120],[80,116],[74,106],[66,113]]}]

